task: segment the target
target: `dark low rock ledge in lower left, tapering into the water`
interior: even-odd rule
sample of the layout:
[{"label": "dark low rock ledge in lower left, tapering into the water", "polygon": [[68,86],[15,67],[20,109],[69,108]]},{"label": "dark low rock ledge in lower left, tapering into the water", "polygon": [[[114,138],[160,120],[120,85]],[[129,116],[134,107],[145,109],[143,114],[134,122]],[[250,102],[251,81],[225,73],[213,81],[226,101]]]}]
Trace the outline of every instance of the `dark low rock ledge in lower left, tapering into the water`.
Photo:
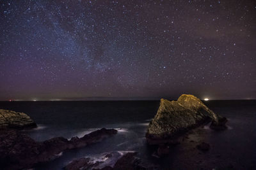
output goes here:
[{"label": "dark low rock ledge in lower left, tapering into the water", "polygon": [[52,138],[36,142],[28,135],[14,130],[0,130],[0,165],[3,169],[23,169],[34,164],[55,159],[64,150],[97,143],[116,134],[115,129],[100,129],[83,138]]}]

